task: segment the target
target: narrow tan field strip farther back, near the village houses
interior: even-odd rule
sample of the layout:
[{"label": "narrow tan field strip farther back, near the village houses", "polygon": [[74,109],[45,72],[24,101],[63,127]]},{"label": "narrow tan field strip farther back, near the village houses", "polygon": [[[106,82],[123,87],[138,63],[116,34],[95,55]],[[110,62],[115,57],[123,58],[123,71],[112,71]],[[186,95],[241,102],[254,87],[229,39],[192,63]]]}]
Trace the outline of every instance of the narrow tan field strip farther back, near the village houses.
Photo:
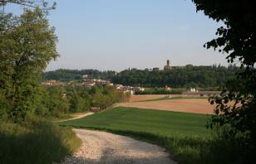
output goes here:
[{"label": "narrow tan field strip farther back, near the village houses", "polygon": [[144,95],[132,95],[129,99],[130,102],[136,102],[136,101],[145,101],[149,99],[160,99],[164,98],[165,96],[170,96],[172,98],[174,97],[183,97],[182,94],[144,94]]}]

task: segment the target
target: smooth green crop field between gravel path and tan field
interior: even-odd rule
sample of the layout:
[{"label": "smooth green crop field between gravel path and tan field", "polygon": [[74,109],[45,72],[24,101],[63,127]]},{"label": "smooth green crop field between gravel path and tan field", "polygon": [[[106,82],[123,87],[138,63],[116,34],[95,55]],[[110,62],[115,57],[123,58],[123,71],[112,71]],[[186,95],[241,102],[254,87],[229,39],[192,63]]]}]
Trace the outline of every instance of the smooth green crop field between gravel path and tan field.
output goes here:
[{"label": "smooth green crop field between gravel path and tan field", "polygon": [[117,107],[86,118],[67,121],[79,128],[109,128],[172,136],[209,136],[205,124],[209,116],[150,109]]}]

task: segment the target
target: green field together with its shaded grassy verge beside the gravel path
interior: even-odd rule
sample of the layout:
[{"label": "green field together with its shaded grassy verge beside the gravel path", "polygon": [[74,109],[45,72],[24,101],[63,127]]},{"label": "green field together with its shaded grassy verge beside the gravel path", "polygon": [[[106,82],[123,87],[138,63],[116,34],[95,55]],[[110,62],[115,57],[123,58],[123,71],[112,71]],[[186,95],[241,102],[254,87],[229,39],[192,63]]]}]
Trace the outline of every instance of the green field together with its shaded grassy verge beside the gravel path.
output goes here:
[{"label": "green field together with its shaded grassy verge beside the gravel path", "polygon": [[237,159],[230,159],[229,153],[239,157],[239,151],[227,142],[214,142],[205,128],[208,119],[205,114],[117,107],[60,124],[152,142],[165,147],[180,164],[233,163]]}]

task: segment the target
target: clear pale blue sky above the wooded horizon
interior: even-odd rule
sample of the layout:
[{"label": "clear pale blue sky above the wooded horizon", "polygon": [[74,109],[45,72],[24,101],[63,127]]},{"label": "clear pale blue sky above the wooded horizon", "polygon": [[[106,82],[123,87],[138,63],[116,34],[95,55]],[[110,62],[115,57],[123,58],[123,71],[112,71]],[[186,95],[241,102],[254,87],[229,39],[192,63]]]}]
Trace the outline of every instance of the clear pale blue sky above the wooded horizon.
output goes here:
[{"label": "clear pale blue sky above the wooded horizon", "polygon": [[191,0],[57,0],[48,15],[60,57],[47,70],[228,65],[207,50],[221,24],[196,12]]}]

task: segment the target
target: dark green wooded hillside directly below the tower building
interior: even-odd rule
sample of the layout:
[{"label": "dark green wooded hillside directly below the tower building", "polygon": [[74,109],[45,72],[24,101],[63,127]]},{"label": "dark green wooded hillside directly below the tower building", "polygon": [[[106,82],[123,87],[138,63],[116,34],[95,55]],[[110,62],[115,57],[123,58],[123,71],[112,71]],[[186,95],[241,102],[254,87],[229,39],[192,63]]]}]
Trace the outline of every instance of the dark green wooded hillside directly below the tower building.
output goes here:
[{"label": "dark green wooded hillside directly below the tower building", "polygon": [[145,87],[216,87],[234,78],[237,67],[193,66],[174,70],[124,70],[117,74],[114,83]]}]

